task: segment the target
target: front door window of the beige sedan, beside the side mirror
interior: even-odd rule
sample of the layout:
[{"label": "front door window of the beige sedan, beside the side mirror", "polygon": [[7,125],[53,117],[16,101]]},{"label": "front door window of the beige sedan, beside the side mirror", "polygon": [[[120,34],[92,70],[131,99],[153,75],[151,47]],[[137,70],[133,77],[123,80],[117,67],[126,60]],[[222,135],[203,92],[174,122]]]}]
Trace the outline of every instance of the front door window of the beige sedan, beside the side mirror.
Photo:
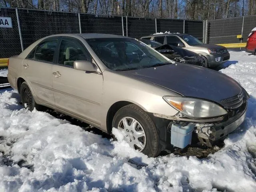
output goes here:
[{"label": "front door window of the beige sedan, beside the side mirror", "polygon": [[85,48],[76,40],[62,40],[58,56],[58,64],[73,67],[76,60],[88,60]]}]

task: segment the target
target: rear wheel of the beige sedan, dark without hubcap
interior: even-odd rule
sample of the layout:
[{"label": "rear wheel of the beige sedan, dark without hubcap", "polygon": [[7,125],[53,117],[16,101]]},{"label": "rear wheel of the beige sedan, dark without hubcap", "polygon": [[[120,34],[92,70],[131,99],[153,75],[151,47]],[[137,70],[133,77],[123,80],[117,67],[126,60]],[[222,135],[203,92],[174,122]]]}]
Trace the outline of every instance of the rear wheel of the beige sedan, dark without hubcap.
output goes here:
[{"label": "rear wheel of the beige sedan, dark without hubcap", "polygon": [[34,108],[36,108],[36,110],[42,109],[42,106],[35,102],[32,92],[26,82],[23,82],[20,86],[20,98],[24,108],[27,108],[30,111],[34,110]]}]

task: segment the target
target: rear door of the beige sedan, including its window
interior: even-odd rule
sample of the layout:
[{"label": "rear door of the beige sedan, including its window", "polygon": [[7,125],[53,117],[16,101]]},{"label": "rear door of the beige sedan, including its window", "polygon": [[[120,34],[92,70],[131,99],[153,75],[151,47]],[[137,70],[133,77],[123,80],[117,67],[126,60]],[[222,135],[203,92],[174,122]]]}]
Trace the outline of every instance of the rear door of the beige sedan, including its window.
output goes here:
[{"label": "rear door of the beige sedan, including its window", "polygon": [[22,71],[35,96],[54,106],[52,90],[52,66],[60,37],[40,42],[22,62]]}]

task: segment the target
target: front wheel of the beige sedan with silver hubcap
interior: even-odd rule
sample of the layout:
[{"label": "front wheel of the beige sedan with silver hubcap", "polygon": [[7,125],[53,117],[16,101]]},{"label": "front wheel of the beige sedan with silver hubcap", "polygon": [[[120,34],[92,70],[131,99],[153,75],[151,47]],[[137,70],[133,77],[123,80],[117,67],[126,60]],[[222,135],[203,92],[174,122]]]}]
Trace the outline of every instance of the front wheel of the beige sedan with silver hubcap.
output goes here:
[{"label": "front wheel of the beige sedan with silver hubcap", "polygon": [[159,136],[152,119],[135,104],[120,108],[112,122],[112,127],[117,128],[128,144],[146,154],[156,157],[159,154]]}]

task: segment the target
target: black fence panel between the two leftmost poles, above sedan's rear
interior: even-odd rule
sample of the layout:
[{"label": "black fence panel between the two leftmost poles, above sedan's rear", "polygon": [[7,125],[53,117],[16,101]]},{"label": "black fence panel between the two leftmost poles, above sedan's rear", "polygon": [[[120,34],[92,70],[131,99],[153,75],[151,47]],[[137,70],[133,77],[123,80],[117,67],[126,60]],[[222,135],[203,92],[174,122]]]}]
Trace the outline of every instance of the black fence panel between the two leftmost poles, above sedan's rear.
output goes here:
[{"label": "black fence panel between the two leftmost poles, above sedan's rear", "polygon": [[79,33],[78,13],[18,10],[24,48],[45,36]]}]

